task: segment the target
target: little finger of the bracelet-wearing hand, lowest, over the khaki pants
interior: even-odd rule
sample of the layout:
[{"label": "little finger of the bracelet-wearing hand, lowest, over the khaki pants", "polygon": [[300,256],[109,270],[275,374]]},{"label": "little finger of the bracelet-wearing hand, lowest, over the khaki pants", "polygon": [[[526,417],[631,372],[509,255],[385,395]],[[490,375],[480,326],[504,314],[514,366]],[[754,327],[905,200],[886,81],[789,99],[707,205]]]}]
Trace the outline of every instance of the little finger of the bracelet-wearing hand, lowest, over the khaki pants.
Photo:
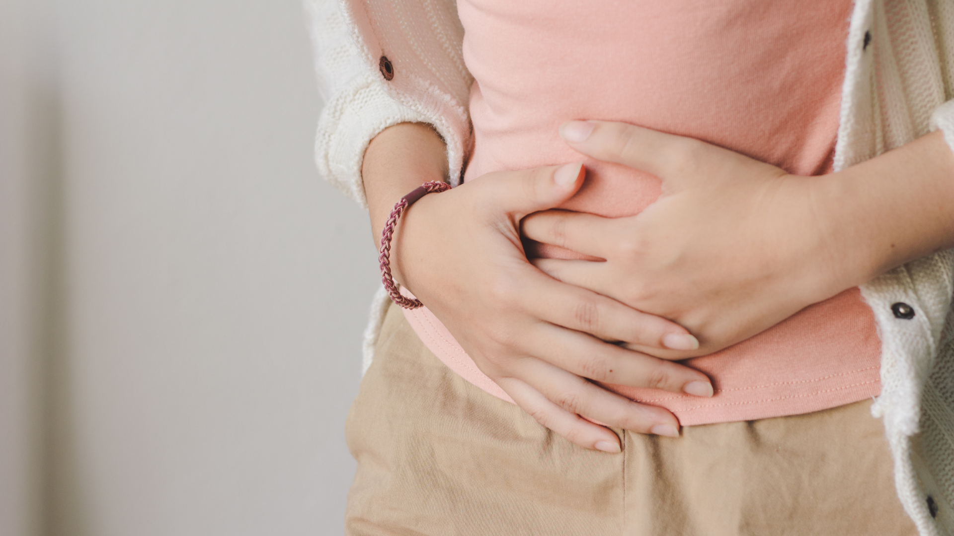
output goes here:
[{"label": "little finger of the bracelet-wearing hand, lowest, over the khaki pants", "polygon": [[612,433],[612,430],[591,423],[550,402],[547,397],[526,382],[515,378],[504,378],[497,383],[513,399],[513,402],[516,402],[537,423],[550,428],[570,443],[604,452],[616,453],[622,450],[619,438]]}]

